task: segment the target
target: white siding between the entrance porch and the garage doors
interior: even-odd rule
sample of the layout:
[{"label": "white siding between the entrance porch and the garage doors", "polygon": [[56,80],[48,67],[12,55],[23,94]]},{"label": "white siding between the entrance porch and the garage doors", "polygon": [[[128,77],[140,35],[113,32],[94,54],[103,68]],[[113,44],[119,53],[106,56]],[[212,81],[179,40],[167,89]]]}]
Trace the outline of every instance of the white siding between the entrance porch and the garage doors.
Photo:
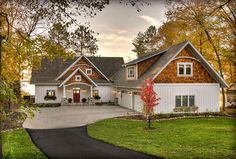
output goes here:
[{"label": "white siding between the entrance porch and the garage doors", "polygon": [[111,86],[98,86],[95,87],[94,90],[98,90],[102,102],[114,101]]}]

